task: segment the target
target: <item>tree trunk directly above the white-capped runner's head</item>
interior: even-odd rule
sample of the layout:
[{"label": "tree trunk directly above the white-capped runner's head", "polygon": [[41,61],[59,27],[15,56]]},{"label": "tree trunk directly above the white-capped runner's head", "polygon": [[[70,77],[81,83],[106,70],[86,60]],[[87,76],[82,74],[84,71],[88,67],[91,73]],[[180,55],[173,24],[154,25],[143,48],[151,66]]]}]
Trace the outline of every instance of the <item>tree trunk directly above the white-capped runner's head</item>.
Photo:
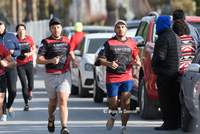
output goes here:
[{"label": "tree trunk directly above the white-capped runner's head", "polygon": [[113,26],[116,21],[115,10],[117,8],[116,0],[106,0],[107,19],[105,25]]}]

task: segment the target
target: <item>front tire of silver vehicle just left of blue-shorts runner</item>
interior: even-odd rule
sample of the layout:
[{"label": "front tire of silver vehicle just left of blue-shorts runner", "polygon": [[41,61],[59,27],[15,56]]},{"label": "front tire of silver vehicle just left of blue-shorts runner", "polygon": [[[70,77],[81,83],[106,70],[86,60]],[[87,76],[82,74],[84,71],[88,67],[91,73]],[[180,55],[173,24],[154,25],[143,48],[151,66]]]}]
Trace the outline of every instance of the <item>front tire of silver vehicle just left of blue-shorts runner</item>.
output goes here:
[{"label": "front tire of silver vehicle just left of blue-shorts runner", "polygon": [[99,88],[96,78],[94,79],[94,86],[93,86],[93,98],[94,102],[102,103],[104,97],[104,92]]}]

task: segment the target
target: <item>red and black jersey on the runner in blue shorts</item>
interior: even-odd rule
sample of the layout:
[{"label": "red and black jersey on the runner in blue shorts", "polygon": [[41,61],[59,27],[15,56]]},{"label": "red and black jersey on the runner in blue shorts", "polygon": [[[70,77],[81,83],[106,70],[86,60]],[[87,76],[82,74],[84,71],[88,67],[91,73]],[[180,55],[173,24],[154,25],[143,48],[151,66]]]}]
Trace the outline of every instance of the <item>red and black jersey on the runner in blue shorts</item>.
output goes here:
[{"label": "red and black jersey on the runner in blue shorts", "polygon": [[106,83],[132,80],[132,57],[135,58],[138,52],[135,41],[130,38],[119,41],[113,37],[106,41],[98,54],[99,57],[106,58],[110,62],[118,60],[117,69],[107,66]]}]

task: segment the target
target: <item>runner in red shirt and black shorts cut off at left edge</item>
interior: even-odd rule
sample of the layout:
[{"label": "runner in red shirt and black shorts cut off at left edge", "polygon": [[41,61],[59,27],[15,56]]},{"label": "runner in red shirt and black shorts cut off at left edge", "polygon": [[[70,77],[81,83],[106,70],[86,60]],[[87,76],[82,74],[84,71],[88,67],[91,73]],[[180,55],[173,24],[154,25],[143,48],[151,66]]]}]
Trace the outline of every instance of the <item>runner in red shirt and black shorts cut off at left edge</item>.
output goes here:
[{"label": "runner in red shirt and black shorts cut off at left edge", "polygon": [[15,60],[12,58],[8,49],[0,44],[0,118],[2,116],[2,107],[5,98],[7,80],[4,67],[14,67]]}]

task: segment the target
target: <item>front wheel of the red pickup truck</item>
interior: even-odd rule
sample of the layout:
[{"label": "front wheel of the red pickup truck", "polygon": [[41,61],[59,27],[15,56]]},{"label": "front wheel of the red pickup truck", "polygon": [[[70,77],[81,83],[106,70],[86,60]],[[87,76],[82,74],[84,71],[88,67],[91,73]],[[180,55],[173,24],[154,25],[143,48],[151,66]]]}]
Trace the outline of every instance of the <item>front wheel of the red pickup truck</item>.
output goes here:
[{"label": "front wheel of the red pickup truck", "polygon": [[158,106],[153,104],[147,94],[144,77],[139,86],[140,117],[142,119],[155,119],[158,113]]}]

